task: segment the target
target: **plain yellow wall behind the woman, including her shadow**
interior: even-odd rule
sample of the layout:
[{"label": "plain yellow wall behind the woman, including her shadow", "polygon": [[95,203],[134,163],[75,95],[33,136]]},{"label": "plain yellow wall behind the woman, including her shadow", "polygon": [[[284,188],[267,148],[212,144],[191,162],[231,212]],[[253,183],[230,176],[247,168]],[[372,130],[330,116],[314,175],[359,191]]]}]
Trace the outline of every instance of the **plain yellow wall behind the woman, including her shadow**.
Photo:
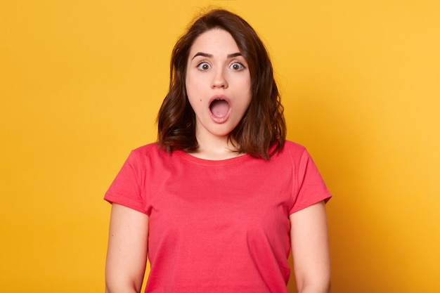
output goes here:
[{"label": "plain yellow wall behind the woman, including her shadow", "polygon": [[0,3],[0,292],[103,292],[103,194],[207,5],[264,39],[334,195],[333,292],[440,292],[439,1]]}]

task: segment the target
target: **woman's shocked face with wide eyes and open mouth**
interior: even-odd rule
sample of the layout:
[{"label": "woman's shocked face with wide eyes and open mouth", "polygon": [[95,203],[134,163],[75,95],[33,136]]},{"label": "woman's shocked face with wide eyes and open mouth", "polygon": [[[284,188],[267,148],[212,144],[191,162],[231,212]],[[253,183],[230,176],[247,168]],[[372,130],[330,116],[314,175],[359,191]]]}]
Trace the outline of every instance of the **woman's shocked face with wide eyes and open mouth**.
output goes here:
[{"label": "woman's shocked face with wide eyes and open mouth", "polygon": [[228,136],[249,107],[252,91],[245,58],[231,34],[213,29],[195,39],[186,67],[186,94],[196,136]]}]

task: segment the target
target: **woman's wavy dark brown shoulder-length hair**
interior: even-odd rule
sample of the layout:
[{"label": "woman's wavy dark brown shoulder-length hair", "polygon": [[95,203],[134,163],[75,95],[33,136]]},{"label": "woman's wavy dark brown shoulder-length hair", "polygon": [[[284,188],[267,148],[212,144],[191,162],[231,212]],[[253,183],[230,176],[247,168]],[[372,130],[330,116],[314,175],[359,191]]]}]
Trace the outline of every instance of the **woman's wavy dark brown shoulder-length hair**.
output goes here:
[{"label": "woman's wavy dark brown shoulder-length hair", "polygon": [[250,70],[252,100],[228,138],[236,144],[238,152],[269,159],[283,149],[286,136],[284,109],[273,78],[271,60],[252,27],[240,16],[221,9],[209,11],[195,20],[174,46],[169,93],[157,116],[157,143],[167,152],[194,152],[198,149],[195,113],[186,96],[186,65],[195,39],[214,28],[231,34]]}]

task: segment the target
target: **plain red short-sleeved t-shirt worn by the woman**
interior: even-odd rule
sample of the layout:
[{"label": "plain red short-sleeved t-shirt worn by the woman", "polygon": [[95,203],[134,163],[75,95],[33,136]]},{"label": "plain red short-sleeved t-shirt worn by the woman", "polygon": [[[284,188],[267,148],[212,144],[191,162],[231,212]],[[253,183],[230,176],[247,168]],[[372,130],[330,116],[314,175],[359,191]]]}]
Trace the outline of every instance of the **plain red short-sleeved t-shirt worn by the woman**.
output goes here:
[{"label": "plain red short-sleeved t-shirt worn by the woman", "polygon": [[153,143],[131,152],[105,200],[149,216],[145,292],[287,293],[289,214],[330,196],[290,141],[269,161],[169,155]]}]

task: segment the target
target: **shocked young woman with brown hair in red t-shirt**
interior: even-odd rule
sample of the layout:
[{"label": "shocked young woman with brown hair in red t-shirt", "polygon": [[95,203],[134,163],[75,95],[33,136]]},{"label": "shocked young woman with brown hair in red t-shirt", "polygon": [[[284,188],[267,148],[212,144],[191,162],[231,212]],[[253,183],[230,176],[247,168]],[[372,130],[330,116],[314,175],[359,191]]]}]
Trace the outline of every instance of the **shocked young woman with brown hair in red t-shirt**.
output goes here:
[{"label": "shocked young woman with brown hair in red t-shirt", "polygon": [[131,152],[112,203],[106,292],[330,291],[325,201],[308,152],[285,141],[271,61],[238,15],[202,15],[177,41],[158,140]]}]

